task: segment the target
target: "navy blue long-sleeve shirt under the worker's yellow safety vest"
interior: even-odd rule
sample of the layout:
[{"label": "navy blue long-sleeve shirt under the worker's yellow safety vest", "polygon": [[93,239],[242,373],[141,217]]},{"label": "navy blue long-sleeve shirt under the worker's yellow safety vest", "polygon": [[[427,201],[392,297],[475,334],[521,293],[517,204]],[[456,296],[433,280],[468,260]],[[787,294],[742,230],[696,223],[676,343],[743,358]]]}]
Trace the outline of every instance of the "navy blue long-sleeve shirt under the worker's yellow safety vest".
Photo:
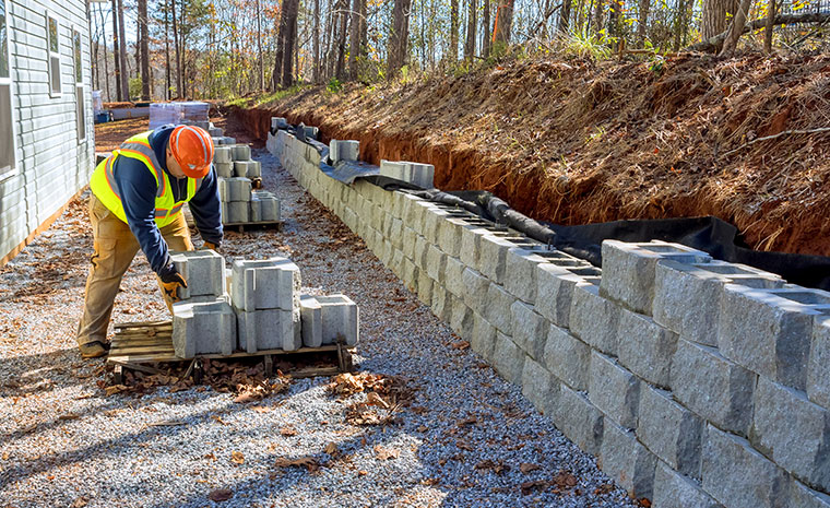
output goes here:
[{"label": "navy blue long-sleeve shirt under the worker's yellow safety vest", "polygon": [[[150,146],[170,180],[170,190],[176,201],[187,196],[188,178],[176,178],[167,170],[167,141],[175,126],[163,126],[150,134]],[[118,191],[121,193],[127,224],[139,240],[141,250],[147,257],[150,267],[161,274],[170,264],[167,243],[162,237],[155,222],[155,198],[158,182],[141,161],[118,157],[112,167]],[[222,218],[216,170],[211,170],[202,179],[202,185],[190,200],[190,212],[204,241],[222,243]]]}]

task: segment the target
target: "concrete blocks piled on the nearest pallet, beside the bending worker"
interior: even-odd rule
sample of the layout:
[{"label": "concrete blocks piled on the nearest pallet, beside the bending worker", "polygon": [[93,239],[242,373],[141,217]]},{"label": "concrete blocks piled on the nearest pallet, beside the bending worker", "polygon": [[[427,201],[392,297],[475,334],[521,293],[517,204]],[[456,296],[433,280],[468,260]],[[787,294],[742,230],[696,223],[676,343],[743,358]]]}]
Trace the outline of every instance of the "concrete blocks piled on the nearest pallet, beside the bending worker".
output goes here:
[{"label": "concrete blocks piled on the nearest pallet, beside the bending worker", "polygon": [[236,260],[228,281],[213,250],[170,257],[188,281],[173,306],[177,356],[357,344],[357,305],[343,295],[301,295],[299,268],[289,259]]}]

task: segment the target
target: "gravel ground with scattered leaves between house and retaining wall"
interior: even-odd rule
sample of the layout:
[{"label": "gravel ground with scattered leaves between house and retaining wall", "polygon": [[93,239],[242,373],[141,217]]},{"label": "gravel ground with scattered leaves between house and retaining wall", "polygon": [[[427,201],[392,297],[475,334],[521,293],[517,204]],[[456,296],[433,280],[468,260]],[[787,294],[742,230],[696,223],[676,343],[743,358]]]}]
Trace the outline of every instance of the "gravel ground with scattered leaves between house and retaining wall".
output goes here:
[{"label": "gravel ground with scattered leaves between house and retaining wall", "polygon": [[[228,233],[224,253],[287,255],[307,291],[351,296],[358,370],[396,377],[412,402],[390,424],[356,426],[346,406],[366,395],[339,400],[331,378],[248,404],[205,387],[106,397],[103,361],[74,348],[92,253],[82,198],[0,269],[0,506],[637,506],[518,387],[453,347],[459,338],[274,157],[254,156],[287,224]],[[122,290],[114,322],[167,318],[143,256]],[[276,465],[309,458],[320,466]],[[216,489],[232,497],[211,500]]]}]

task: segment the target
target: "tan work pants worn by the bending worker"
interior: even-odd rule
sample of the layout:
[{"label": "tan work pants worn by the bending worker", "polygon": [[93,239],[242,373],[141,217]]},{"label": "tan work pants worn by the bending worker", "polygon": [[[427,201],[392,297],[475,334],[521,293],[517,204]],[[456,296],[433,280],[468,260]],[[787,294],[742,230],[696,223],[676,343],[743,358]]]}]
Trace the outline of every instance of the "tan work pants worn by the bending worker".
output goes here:
[{"label": "tan work pants worn by the bending worker", "polygon": [[[79,344],[105,342],[121,277],[140,249],[130,226],[110,212],[95,194],[90,198],[90,222],[95,252],[86,279],[84,315],[78,327]],[[193,250],[183,213],[159,231],[170,250]]]}]

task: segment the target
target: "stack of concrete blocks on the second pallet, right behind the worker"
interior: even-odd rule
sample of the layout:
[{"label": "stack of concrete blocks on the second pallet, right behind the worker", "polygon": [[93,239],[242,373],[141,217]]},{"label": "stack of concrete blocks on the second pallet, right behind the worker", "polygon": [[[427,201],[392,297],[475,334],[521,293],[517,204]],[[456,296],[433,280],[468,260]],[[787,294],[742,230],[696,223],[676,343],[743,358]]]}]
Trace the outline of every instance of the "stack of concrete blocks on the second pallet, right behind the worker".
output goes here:
[{"label": "stack of concrete blocks on the second pallet, right behind the worker", "polygon": [[220,200],[224,224],[247,224],[280,220],[280,200],[271,192],[252,188],[251,178],[262,176],[259,161],[251,161],[245,144],[216,146],[213,165],[220,177]]}]

